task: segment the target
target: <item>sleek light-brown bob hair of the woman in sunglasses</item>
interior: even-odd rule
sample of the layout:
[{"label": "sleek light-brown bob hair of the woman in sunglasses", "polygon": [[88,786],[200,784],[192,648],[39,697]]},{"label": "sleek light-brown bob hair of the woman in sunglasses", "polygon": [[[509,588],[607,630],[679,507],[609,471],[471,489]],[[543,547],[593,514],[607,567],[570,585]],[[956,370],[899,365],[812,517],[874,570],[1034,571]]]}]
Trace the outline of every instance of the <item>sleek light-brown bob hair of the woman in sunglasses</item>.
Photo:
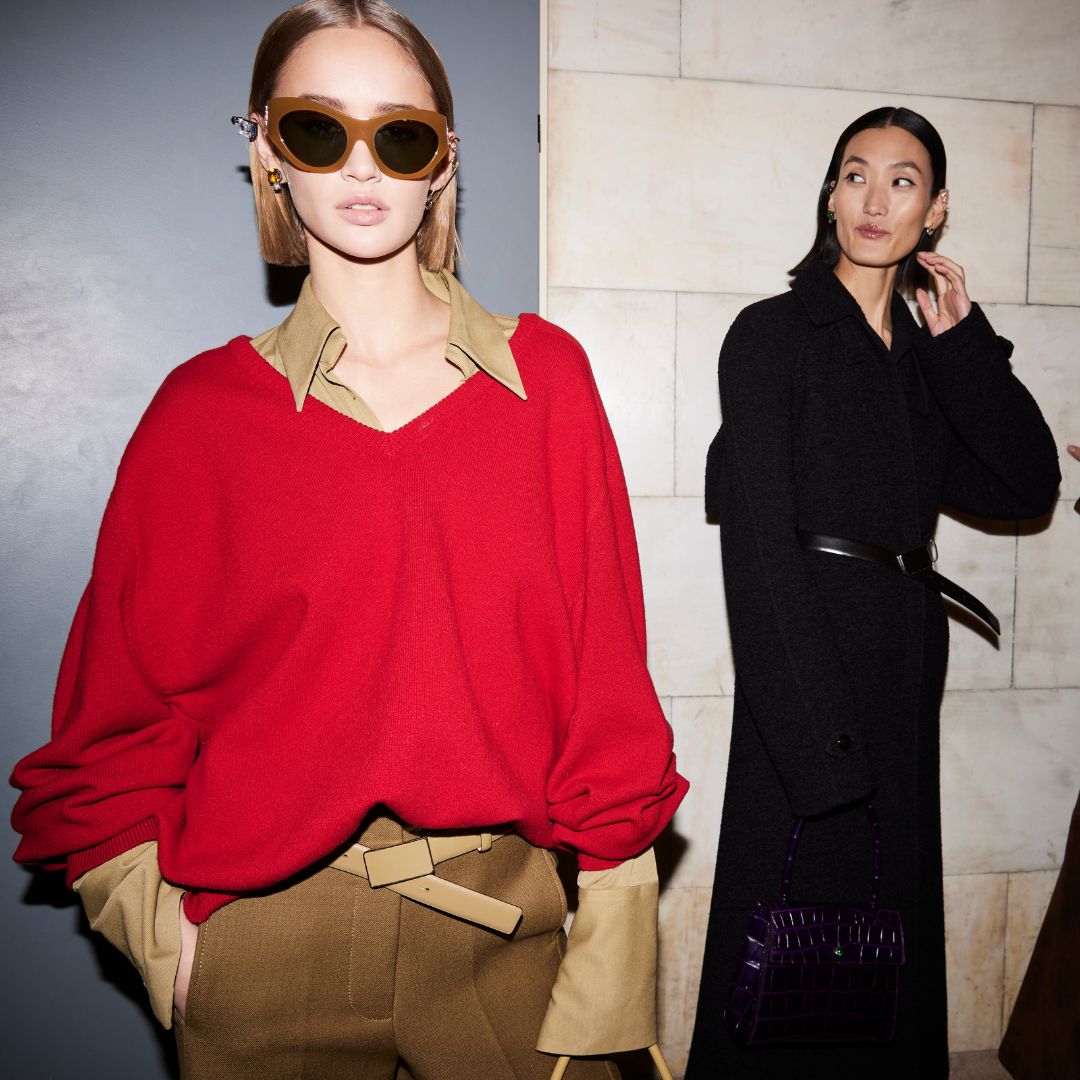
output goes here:
[{"label": "sleek light-brown bob hair of the woman in sunglasses", "polygon": [[[265,116],[273,97],[278,76],[293,50],[315,30],[327,27],[373,26],[390,35],[420,70],[435,99],[435,110],[446,117],[454,130],[454,95],[446,68],[428,39],[386,0],[303,0],[279,15],[268,27],[252,70],[248,114]],[[255,213],[259,222],[259,251],[267,262],[276,266],[306,266],[308,245],[303,227],[293,206],[288,188],[275,193],[259,162],[255,144],[251,146],[252,187]],[[424,215],[417,232],[417,252],[427,269],[453,270],[461,253],[457,229],[458,181],[451,177],[434,205]]]}]

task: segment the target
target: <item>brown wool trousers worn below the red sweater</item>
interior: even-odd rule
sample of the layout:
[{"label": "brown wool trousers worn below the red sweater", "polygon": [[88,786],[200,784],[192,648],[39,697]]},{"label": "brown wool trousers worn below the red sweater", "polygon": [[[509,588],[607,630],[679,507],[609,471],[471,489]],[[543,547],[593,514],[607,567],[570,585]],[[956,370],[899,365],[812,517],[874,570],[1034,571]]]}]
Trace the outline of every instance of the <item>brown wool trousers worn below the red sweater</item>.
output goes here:
[{"label": "brown wool trousers worn below the red sweater", "polygon": [[[415,834],[388,818],[370,848]],[[537,1035],[564,947],[553,856],[517,836],[436,874],[522,908],[511,936],[325,867],[234,901],[199,929],[184,1080],[548,1080]],[[575,1061],[567,1080],[617,1080]]]}]

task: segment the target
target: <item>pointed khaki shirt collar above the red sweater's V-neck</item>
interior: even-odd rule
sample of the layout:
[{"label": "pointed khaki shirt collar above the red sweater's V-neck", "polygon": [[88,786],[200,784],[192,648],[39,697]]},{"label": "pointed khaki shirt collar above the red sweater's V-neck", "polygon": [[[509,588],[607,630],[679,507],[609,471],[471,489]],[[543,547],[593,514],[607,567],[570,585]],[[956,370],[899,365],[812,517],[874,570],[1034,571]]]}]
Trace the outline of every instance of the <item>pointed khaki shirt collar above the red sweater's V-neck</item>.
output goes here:
[{"label": "pointed khaki shirt collar above the red sweater's V-neck", "polygon": [[[477,303],[448,270],[432,272],[421,268],[420,274],[428,289],[450,306],[447,359],[453,361],[454,352],[459,352],[525,401],[525,387],[508,341],[508,334],[512,333],[517,320],[494,315]],[[309,275],[300,288],[296,307],[278,332],[278,352],[297,411],[303,408],[315,370],[320,365],[332,368],[347,343],[341,327],[315,296]]]}]

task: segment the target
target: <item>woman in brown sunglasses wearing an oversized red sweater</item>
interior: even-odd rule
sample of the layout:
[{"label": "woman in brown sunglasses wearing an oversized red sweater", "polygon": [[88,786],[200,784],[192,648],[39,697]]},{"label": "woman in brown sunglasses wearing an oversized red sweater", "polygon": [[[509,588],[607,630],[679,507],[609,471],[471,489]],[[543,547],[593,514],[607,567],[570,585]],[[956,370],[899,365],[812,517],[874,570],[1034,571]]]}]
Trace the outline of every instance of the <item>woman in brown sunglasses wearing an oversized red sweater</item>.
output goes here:
[{"label": "woman in brown sunglasses wearing an oversized red sweater", "polygon": [[[686,782],[589,363],[453,275],[450,87],[390,4],[286,11],[233,120],[264,255],[311,273],[139,423],[16,858],[66,872],[186,1080],[546,1080],[649,1045],[650,845]],[[581,867],[565,957],[551,848]]]}]

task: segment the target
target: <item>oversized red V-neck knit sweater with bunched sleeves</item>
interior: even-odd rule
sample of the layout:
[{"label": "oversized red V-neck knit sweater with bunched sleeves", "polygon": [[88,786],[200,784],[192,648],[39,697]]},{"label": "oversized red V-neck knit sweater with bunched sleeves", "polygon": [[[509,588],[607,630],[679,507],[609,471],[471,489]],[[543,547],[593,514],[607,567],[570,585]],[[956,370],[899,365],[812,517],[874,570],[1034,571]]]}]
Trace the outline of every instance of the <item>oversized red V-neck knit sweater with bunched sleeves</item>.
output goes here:
[{"label": "oversized red V-neck knit sweater with bunched sleeves", "polygon": [[527,402],[476,375],[389,433],[297,414],[244,338],[168,376],[12,778],[16,860],[157,839],[199,921],[379,805],[586,869],[648,847],[687,785],[618,454],[571,337],[526,315],[511,349]]}]

